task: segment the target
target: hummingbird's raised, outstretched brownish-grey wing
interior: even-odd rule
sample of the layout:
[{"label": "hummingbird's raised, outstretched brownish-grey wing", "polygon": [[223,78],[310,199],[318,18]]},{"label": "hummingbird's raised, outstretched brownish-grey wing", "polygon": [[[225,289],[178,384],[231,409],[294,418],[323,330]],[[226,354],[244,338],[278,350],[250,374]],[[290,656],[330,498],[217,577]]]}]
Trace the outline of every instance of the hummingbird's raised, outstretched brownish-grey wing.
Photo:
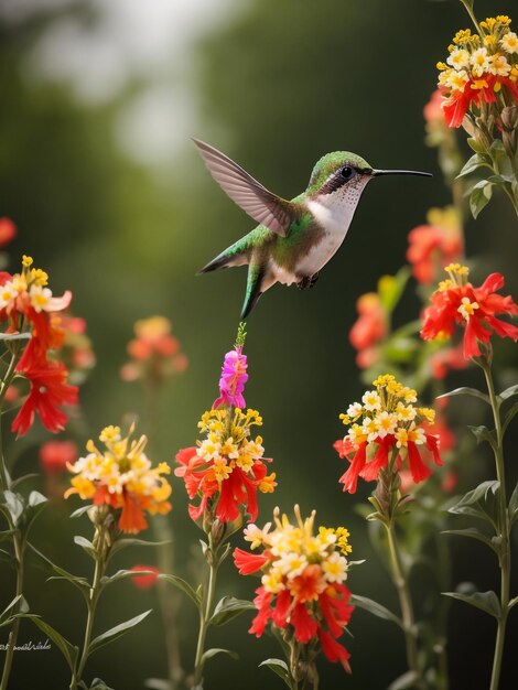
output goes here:
[{"label": "hummingbird's raised, outstretched brownish-grey wing", "polygon": [[291,202],[269,192],[228,155],[214,147],[193,139],[214,180],[228,196],[253,220],[285,237],[296,219],[296,207]]}]

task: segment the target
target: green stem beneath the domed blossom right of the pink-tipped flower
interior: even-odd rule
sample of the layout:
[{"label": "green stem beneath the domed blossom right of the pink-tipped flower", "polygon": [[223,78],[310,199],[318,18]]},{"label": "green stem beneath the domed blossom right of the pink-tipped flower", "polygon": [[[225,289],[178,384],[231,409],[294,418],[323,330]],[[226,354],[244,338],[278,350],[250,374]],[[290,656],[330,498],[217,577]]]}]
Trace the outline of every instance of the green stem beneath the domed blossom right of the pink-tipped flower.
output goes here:
[{"label": "green stem beneath the domed blossom right of the pink-tipped flower", "polygon": [[423,679],[421,678],[421,671],[419,669],[418,639],[416,633],[416,621],[413,616],[412,597],[407,583],[407,579],[404,576],[401,552],[396,537],[395,524],[393,521],[390,521],[388,525],[385,524],[385,527],[387,529],[392,581],[398,591],[399,605],[401,607],[401,618],[403,623],[404,640],[407,646],[407,664],[409,669],[416,675],[416,687],[422,689],[425,686]]}]

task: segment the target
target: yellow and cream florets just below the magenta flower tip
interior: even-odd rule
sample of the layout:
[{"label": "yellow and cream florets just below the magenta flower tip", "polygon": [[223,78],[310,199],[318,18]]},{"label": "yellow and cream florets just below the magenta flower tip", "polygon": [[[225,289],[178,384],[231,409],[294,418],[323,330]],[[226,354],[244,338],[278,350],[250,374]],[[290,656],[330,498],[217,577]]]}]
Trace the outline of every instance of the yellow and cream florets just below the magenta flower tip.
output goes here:
[{"label": "yellow and cream florets just below the magenta flower tip", "polygon": [[[203,414],[198,428],[202,433],[206,433],[206,439],[197,441],[196,452],[198,457],[211,464],[219,485],[228,478],[234,467],[250,473],[253,464],[262,460],[262,436],[250,440],[251,427],[260,425],[262,418],[257,410],[222,407]],[[272,492],[274,476],[265,477],[259,489]]]}]

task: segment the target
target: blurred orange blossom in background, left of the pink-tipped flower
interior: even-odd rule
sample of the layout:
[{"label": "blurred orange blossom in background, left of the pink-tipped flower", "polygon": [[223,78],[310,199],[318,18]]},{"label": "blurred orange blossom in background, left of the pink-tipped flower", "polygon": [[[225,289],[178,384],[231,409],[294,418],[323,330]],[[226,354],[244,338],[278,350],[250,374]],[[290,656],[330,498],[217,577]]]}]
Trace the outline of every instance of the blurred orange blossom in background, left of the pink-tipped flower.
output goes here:
[{"label": "blurred orange blossom in background, left of the pink-tipped flower", "polygon": [[165,316],[137,321],[133,326],[136,337],[128,343],[131,362],[120,370],[125,381],[161,380],[186,369],[187,357],[181,352],[180,341],[172,335],[172,327]]}]

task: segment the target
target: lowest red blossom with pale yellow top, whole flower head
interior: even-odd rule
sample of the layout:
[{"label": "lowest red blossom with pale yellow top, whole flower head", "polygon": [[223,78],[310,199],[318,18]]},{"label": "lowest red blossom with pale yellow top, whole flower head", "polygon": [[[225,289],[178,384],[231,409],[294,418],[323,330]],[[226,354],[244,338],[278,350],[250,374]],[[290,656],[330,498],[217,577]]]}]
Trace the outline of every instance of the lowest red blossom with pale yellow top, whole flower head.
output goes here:
[{"label": "lowest red blossom with pale yellow top, whole flower head", "polygon": [[296,642],[307,645],[320,640],[322,651],[331,661],[341,661],[350,672],[349,653],[336,639],[342,636],[353,613],[350,592],[345,586],[352,548],[348,531],[320,527],[314,533],[315,511],[302,519],[299,506],[296,524],[288,516],[273,514],[274,527],[263,529],[250,525],[245,539],[250,553],[235,549],[234,561],[241,574],[262,571],[261,586],[256,590],[253,603],[258,610],[250,633],[260,637],[269,622],[281,629],[290,629]]}]

